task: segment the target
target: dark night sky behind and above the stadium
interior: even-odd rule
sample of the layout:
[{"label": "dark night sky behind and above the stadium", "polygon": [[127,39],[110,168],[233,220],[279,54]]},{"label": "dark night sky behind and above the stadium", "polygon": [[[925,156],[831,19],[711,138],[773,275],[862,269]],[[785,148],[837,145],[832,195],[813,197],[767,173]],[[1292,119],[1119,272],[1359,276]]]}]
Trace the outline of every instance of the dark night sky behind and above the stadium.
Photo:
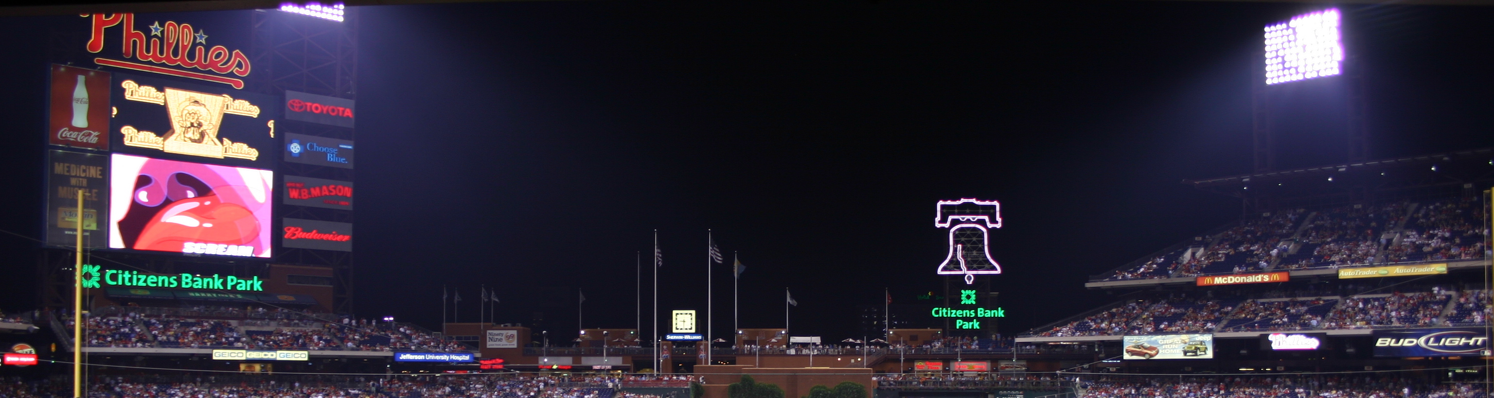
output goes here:
[{"label": "dark night sky behind and above the stadium", "polygon": [[[1014,334],[1115,300],[1109,271],[1240,216],[1186,177],[1250,171],[1261,27],[1321,9],[1215,1],[512,1],[357,7],[356,309],[439,328],[442,285],[477,320],[574,334],[644,322],[654,230],[660,312],[859,335],[856,306],[941,289],[934,203],[999,200],[992,277]],[[1366,70],[1371,157],[1494,145],[1494,9],[1346,6]],[[45,78],[48,18],[4,76]],[[22,39],[24,37],[24,39]],[[0,230],[37,236],[40,82],[15,82]],[[1343,161],[1342,79],[1304,82],[1283,115],[1283,165]],[[27,91],[34,89],[34,91]],[[34,137],[33,137],[34,136]],[[36,244],[0,237],[34,306]],[[663,320],[663,319],[660,319]],[[704,319],[702,319],[704,322]]]}]

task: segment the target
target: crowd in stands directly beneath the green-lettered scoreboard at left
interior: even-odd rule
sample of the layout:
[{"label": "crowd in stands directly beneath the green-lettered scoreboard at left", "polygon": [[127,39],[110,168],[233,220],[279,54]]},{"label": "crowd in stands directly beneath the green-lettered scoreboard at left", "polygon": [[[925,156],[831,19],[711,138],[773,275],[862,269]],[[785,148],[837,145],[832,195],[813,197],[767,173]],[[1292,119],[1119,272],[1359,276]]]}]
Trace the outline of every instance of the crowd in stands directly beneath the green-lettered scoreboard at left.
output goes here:
[{"label": "crowd in stands directly beneath the green-lettered scoreboard at left", "polygon": [[[462,352],[469,346],[447,341],[418,326],[341,318],[339,322],[282,318],[270,319],[190,319],[172,312],[142,315],[134,307],[117,315],[96,313],[87,319],[87,338],[103,347],[245,347],[309,350],[433,350]],[[196,309],[193,312],[203,313]],[[230,313],[206,310],[211,313]],[[252,315],[255,310],[241,310]]]}]

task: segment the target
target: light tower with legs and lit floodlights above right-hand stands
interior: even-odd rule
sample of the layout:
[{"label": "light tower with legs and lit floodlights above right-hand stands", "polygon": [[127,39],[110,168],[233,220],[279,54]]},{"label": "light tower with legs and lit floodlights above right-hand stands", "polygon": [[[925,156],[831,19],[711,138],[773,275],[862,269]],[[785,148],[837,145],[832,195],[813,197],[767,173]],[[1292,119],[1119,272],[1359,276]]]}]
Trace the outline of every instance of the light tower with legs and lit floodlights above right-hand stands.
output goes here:
[{"label": "light tower with legs and lit floodlights above right-hand stands", "polygon": [[[1343,12],[1324,9],[1301,13],[1262,28],[1264,69],[1252,94],[1255,171],[1276,168],[1276,136],[1271,118],[1273,94],[1292,82],[1348,75],[1349,137],[1348,161],[1369,158],[1364,122],[1364,80],[1345,51]],[[1285,95],[1285,94],[1283,94]]]}]

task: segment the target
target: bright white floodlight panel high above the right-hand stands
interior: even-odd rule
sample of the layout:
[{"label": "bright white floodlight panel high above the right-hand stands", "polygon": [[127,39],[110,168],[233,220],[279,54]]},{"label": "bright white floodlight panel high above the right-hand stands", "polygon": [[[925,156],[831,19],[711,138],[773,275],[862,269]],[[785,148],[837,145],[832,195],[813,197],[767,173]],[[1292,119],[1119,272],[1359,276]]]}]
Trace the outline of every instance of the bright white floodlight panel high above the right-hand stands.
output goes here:
[{"label": "bright white floodlight panel high above the right-hand stands", "polygon": [[1265,27],[1265,83],[1334,76],[1343,70],[1339,9],[1292,16]]}]

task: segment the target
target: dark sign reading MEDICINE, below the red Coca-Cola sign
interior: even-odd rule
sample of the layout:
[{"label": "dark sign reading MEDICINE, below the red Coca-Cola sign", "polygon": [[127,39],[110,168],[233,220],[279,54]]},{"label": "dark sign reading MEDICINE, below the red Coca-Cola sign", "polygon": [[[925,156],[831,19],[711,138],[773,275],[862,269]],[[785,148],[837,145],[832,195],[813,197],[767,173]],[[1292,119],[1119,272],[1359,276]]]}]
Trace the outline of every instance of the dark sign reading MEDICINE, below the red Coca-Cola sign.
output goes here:
[{"label": "dark sign reading MEDICINE, below the red Coca-Cola sign", "polygon": [[46,151],[46,246],[78,244],[78,194],[84,194],[84,247],[105,247],[109,215],[109,157]]}]

